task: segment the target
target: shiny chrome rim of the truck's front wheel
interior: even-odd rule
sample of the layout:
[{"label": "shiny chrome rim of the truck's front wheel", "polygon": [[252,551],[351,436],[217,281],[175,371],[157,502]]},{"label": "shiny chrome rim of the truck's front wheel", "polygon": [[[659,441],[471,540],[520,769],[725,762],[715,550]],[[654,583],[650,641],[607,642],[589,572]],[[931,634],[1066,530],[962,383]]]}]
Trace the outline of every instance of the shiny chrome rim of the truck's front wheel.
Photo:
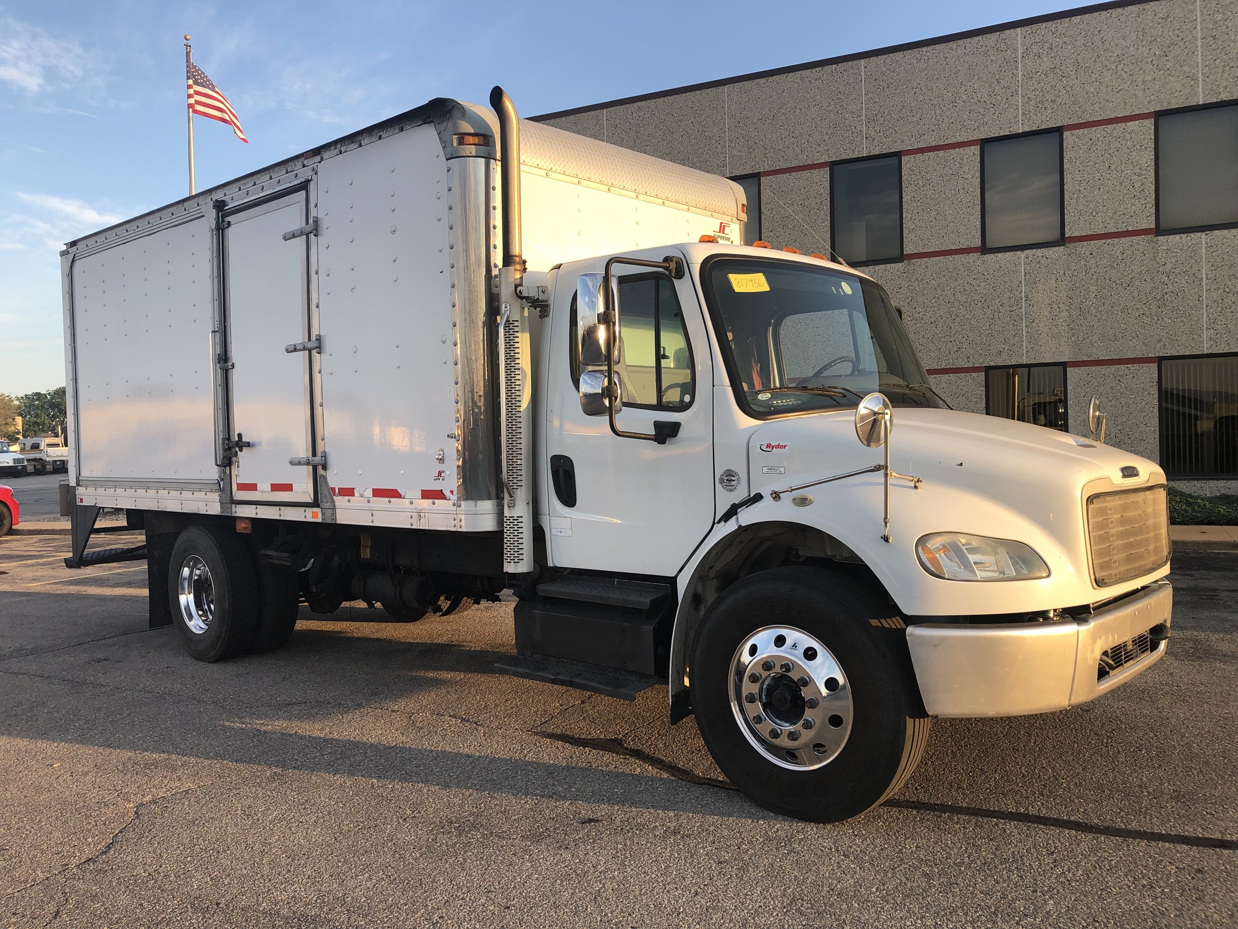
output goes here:
[{"label": "shiny chrome rim of the truck's front wheel", "polygon": [[730,661],[729,697],[744,737],[780,768],[828,764],[851,736],[847,675],[802,629],[766,626],[748,635]]}]

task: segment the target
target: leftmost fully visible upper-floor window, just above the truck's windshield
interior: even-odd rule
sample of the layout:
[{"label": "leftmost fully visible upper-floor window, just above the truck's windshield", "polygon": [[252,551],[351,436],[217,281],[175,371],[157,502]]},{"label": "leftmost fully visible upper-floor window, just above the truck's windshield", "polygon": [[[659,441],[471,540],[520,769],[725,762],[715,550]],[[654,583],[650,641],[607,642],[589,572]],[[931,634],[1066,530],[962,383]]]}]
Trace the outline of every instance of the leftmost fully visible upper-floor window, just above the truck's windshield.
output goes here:
[{"label": "leftmost fully visible upper-floor window, just above the truck's windshield", "polygon": [[903,260],[903,156],[829,166],[834,254],[852,265]]}]

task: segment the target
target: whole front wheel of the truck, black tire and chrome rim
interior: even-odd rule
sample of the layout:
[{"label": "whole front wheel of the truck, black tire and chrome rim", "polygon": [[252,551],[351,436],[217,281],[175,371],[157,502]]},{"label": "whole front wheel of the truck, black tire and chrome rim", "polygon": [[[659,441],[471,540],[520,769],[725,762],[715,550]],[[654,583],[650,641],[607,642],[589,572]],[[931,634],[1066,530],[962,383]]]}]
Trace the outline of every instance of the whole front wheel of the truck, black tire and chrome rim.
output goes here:
[{"label": "whole front wheel of the truck, black tire and chrome rim", "polygon": [[761,571],[724,591],[690,666],[718,767],[796,819],[834,822],[881,803],[928,737],[904,628],[865,587],[822,569]]}]

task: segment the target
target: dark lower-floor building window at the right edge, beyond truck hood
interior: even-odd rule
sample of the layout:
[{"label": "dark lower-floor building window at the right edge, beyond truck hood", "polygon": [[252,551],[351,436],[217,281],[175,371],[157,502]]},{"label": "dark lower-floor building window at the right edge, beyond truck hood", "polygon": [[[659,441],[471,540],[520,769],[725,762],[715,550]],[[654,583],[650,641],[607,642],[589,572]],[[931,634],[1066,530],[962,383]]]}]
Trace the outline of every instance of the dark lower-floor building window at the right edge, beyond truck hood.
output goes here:
[{"label": "dark lower-floor building window at the right edge, beyond truck hood", "polygon": [[1160,432],[1169,477],[1238,477],[1238,355],[1162,358]]}]

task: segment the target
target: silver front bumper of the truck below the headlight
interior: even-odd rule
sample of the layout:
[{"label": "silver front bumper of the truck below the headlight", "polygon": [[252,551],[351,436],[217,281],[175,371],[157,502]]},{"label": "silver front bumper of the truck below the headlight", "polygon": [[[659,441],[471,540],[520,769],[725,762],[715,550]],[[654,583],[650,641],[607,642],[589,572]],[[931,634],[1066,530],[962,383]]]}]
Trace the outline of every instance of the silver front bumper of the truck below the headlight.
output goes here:
[{"label": "silver front bumper of the truck below the headlight", "polygon": [[933,716],[1024,716],[1084,704],[1160,660],[1167,642],[1097,680],[1102,653],[1169,626],[1172,604],[1172,587],[1158,581],[1089,619],[907,627],[925,709]]}]

